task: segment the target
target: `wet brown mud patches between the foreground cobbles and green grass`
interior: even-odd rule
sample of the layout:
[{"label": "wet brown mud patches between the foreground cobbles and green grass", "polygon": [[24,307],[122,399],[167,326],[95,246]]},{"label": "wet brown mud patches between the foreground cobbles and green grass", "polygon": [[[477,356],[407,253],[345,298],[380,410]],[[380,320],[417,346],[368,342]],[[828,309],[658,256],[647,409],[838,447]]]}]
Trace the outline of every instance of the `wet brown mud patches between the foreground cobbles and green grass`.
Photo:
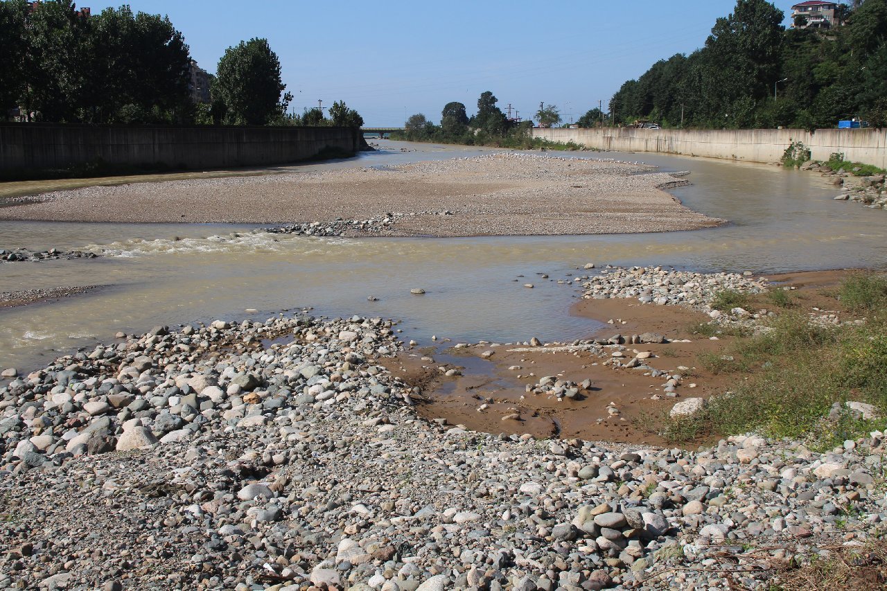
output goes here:
[{"label": "wet brown mud patches between the foreground cobbles and green grass", "polygon": [[[773,288],[794,287],[797,311],[825,313],[844,311],[833,291],[850,271],[798,272],[769,276]],[[755,310],[773,310],[765,296],[754,298]],[[614,335],[638,335],[645,332],[665,336],[670,343],[626,345],[633,351],[650,351],[648,366],[666,373],[681,374],[679,398],[663,392],[664,377],[644,375],[632,369],[614,369],[602,365],[600,358],[588,351],[546,352],[509,351],[520,345],[491,347],[489,343],[464,349],[441,351],[431,355],[435,362],[422,361],[420,352],[406,352],[386,365],[405,382],[420,387],[419,413],[431,420],[445,418],[450,424],[492,433],[523,434],[536,437],[579,437],[589,440],[662,445],[655,433],[656,417],[666,414],[676,402],[687,397],[709,398],[729,389],[736,379],[731,375],[712,374],[700,363],[707,353],[726,354],[734,337],[717,339],[694,334],[694,328],[710,318],[702,312],[682,306],[641,304],[635,299],[588,299],[576,303],[571,313],[613,324],[590,338]],[[687,340],[688,343],[681,341]],[[556,347],[550,347],[553,349]],[[495,351],[490,359],[481,359],[483,351]],[[425,352],[428,354],[428,351]],[[460,364],[460,361],[462,362]],[[466,366],[462,376],[446,377],[438,369]],[[521,366],[511,370],[510,366]],[[679,370],[685,366],[687,370]],[[533,375],[530,376],[529,374]],[[521,375],[521,377],[518,377]],[[592,381],[590,390],[577,399],[558,400],[552,395],[533,394],[526,385],[535,385],[542,376],[553,375],[572,382]],[[695,383],[695,388],[690,384]],[[657,395],[660,399],[652,399]],[[485,410],[478,411],[483,404]],[[620,414],[609,416],[607,407],[616,406]],[[520,414],[520,420],[503,420]]]}]

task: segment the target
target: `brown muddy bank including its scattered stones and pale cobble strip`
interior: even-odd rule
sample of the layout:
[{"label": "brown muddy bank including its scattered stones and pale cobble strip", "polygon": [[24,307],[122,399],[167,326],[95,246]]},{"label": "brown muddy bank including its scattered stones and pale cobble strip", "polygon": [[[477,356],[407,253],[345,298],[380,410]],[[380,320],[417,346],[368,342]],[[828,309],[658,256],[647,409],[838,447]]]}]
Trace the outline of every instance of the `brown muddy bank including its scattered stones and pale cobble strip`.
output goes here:
[{"label": "brown muddy bank including its scattered stones and pale cobble strip", "polygon": [[[662,433],[673,406],[723,394],[741,380],[710,360],[731,353],[742,335],[787,310],[832,324],[858,318],[836,299],[841,283],[853,276],[577,271],[570,282],[587,299],[571,313],[605,323],[588,338],[443,343],[405,351],[385,365],[425,392],[419,413],[429,421],[443,418],[492,433],[664,445],[674,443]],[[653,303],[651,294],[661,289],[655,286],[663,284],[680,287]],[[734,292],[743,294],[742,302],[725,310],[718,294]],[[721,435],[681,443],[710,444],[710,437]]]}]

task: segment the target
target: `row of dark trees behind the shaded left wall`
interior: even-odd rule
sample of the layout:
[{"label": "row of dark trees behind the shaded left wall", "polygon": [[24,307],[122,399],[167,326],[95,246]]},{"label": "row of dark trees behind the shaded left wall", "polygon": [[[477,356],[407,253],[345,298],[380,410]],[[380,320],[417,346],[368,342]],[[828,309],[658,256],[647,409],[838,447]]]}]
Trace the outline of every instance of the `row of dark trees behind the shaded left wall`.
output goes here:
[{"label": "row of dark trees behind the shaded left wall", "polygon": [[70,0],[0,0],[0,119],[79,123],[345,125],[344,102],[287,114],[292,94],[266,39],[229,47],[192,98],[190,49],[169,18],[129,5],[90,15]]}]

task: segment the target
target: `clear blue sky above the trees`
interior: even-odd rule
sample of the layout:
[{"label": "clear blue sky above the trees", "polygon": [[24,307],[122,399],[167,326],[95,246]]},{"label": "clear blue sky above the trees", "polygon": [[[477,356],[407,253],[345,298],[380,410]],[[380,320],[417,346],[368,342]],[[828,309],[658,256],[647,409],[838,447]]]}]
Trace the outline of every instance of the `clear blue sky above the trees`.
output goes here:
[{"label": "clear blue sky above the trees", "polygon": [[[84,0],[93,12],[122,2]],[[776,0],[788,16],[792,0]],[[447,102],[492,91],[522,117],[539,102],[565,121],[607,102],[656,60],[694,51],[735,0],[132,0],[168,14],[210,73],[224,50],[265,37],[280,58],[293,107],[345,100],[365,124],[438,121]],[[788,19],[786,20],[788,24]]]}]

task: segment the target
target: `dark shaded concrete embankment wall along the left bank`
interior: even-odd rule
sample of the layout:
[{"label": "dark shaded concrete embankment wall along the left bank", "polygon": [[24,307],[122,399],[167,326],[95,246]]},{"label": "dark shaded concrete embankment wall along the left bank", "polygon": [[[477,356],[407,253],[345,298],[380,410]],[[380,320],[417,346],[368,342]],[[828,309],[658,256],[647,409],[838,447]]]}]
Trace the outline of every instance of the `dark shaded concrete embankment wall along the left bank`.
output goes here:
[{"label": "dark shaded concrete embankment wall along the left bank", "polygon": [[0,176],[106,162],[214,169],[298,162],[325,150],[354,153],[342,127],[118,126],[0,123]]}]

